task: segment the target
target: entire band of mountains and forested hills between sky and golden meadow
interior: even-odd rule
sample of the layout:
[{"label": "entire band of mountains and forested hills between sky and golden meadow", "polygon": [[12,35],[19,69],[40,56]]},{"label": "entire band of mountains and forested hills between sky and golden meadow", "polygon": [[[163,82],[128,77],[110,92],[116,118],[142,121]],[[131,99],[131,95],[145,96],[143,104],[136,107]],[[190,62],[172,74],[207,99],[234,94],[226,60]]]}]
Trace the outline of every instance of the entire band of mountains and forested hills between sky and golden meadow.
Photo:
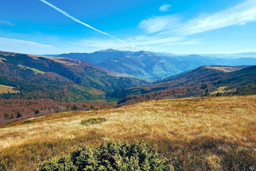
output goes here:
[{"label": "entire band of mountains and forested hills between sky and golden meadow", "polygon": [[0,51],[0,123],[39,111],[256,94],[256,58],[166,55],[113,49],[63,57]]}]

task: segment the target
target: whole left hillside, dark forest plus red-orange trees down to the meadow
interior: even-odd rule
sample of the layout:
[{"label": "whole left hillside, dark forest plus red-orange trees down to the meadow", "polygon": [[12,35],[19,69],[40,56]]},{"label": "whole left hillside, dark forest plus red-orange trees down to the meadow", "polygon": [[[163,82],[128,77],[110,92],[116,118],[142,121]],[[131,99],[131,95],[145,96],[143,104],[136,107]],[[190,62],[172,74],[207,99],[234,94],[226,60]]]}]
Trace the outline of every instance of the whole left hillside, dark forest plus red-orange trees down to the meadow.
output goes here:
[{"label": "whole left hillside, dark forest plus red-orange trees down to the meadow", "polygon": [[40,115],[70,111],[73,105],[76,110],[114,107],[118,100],[105,93],[147,83],[116,74],[79,60],[0,52],[0,124],[39,111]]}]

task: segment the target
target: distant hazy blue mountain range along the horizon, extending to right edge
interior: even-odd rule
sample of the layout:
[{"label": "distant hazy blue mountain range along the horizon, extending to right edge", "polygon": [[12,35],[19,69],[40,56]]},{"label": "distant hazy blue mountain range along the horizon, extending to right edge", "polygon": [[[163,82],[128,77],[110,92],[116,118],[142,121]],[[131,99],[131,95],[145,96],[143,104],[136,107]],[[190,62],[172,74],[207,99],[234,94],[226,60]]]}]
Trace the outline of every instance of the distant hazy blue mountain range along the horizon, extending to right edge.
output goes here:
[{"label": "distant hazy blue mountain range along the horizon, extending to right edge", "polygon": [[202,65],[256,65],[256,53],[179,56],[173,53],[107,49],[94,53],[61,54],[58,57],[90,62],[117,73],[129,74],[150,82],[162,80]]}]

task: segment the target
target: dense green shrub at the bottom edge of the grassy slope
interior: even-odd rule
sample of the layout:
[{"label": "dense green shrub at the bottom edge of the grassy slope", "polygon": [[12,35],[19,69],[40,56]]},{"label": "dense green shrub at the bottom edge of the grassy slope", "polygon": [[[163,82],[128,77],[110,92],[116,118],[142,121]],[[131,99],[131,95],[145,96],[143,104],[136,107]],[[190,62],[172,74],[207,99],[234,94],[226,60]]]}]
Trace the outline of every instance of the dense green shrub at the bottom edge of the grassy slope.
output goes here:
[{"label": "dense green shrub at the bottom edge of the grassy slope", "polygon": [[144,141],[84,146],[71,155],[53,158],[38,166],[39,171],[172,171],[171,160],[163,158]]}]

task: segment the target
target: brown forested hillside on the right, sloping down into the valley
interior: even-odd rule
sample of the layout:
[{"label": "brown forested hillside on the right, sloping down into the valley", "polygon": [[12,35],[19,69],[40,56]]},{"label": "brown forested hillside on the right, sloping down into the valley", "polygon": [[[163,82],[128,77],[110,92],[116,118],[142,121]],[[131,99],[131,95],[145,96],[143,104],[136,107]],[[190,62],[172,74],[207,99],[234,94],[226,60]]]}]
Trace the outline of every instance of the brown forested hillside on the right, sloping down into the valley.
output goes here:
[{"label": "brown forested hillside on the right, sloping down into the valley", "polygon": [[[227,72],[227,68],[237,70]],[[224,70],[224,71],[223,71]],[[133,104],[147,100],[159,100],[166,98],[184,98],[209,95],[216,91],[218,87],[225,86],[225,90],[238,89],[256,84],[256,66],[237,66],[237,67],[207,67],[202,66],[191,71],[171,76],[155,84],[147,84],[132,87],[121,91],[114,91],[109,95],[122,98],[118,102],[119,106]],[[254,86],[250,87],[251,93],[255,94]],[[236,91],[236,90],[234,90]],[[236,94],[246,95],[236,91]],[[230,92],[229,92],[230,94]],[[234,94],[234,93],[233,93]],[[218,95],[221,95],[218,93]]]}]

